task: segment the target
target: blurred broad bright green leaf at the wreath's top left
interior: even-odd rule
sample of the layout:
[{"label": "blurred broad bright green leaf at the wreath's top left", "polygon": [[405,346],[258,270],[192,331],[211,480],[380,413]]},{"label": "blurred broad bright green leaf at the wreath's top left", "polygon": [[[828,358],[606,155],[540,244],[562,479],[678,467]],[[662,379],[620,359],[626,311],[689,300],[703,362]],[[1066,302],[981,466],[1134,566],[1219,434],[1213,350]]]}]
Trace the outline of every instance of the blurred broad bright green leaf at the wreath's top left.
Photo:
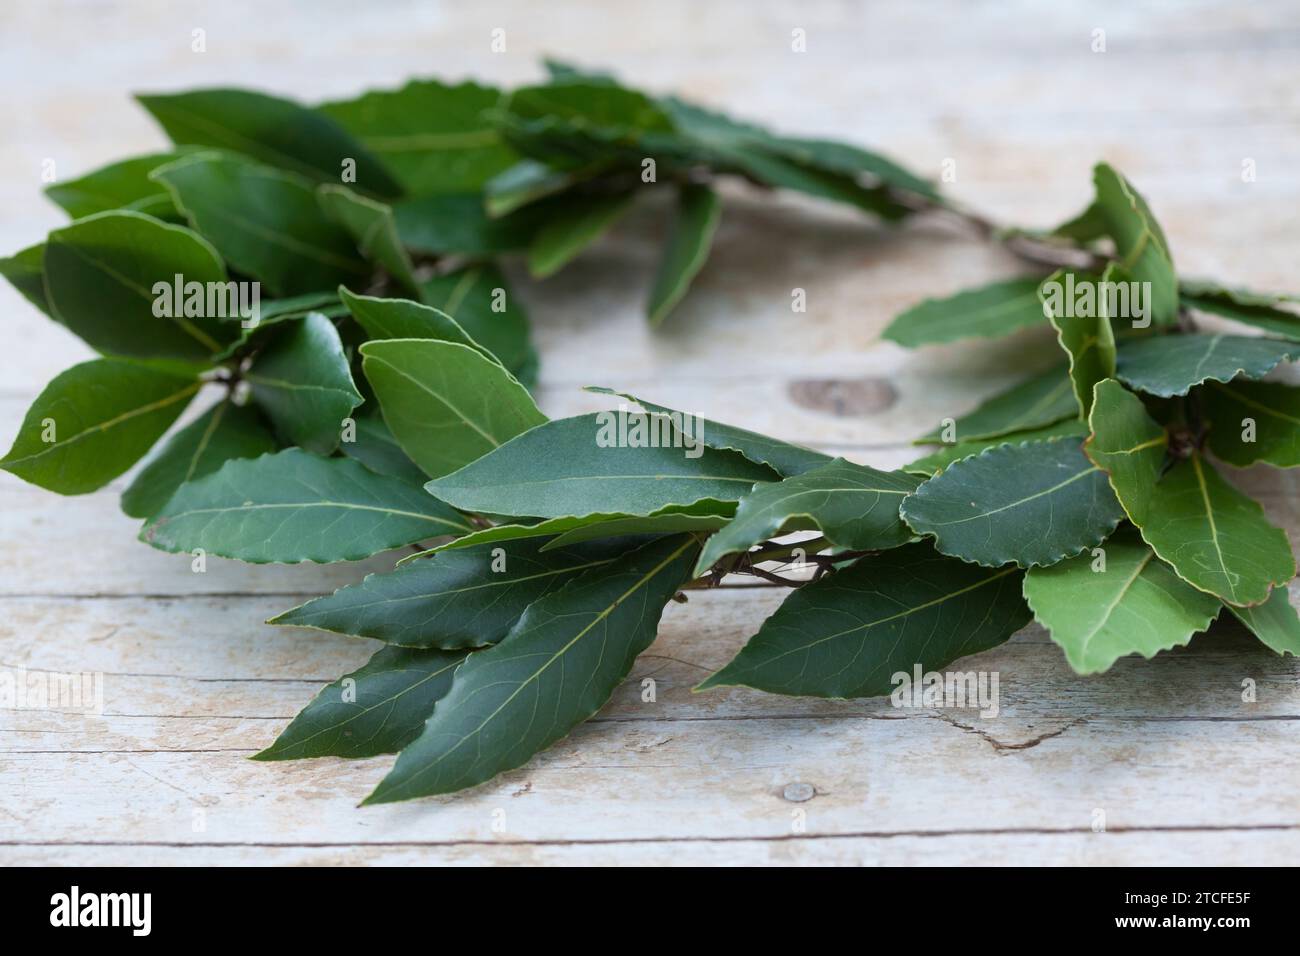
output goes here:
[{"label": "blurred broad bright green leaf at the wreath's top left", "polygon": [[477,83],[412,79],[317,109],[360,139],[411,195],[472,193],[516,159],[484,112],[500,92]]}]

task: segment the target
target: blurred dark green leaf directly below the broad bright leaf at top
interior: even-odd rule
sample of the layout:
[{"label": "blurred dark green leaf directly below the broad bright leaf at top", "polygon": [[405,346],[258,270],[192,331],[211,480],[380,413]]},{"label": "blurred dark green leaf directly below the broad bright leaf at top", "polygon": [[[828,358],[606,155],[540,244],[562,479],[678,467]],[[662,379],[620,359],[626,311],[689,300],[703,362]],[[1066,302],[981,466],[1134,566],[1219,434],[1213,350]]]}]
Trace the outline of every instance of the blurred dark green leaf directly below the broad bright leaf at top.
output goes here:
[{"label": "blurred dark green leaf directly below the broad bright leaf at top", "polygon": [[547,200],[493,219],[481,194],[465,193],[407,199],[394,204],[393,216],[398,237],[416,252],[494,256],[528,248],[560,208],[563,199]]}]

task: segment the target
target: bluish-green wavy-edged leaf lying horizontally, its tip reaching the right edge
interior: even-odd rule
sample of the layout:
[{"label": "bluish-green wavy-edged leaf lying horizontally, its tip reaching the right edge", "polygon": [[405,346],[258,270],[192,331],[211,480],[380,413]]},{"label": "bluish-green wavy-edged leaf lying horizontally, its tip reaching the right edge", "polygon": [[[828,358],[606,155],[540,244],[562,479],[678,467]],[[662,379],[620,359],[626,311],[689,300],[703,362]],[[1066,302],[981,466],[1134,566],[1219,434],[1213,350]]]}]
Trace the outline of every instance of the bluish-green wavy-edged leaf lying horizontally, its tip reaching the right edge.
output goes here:
[{"label": "bluish-green wavy-edged leaf lying horizontally, its tip reaching the right edge", "polygon": [[1262,378],[1300,358],[1300,345],[1278,338],[1223,334],[1150,336],[1124,342],[1115,377],[1150,395],[1186,395],[1204,381]]}]

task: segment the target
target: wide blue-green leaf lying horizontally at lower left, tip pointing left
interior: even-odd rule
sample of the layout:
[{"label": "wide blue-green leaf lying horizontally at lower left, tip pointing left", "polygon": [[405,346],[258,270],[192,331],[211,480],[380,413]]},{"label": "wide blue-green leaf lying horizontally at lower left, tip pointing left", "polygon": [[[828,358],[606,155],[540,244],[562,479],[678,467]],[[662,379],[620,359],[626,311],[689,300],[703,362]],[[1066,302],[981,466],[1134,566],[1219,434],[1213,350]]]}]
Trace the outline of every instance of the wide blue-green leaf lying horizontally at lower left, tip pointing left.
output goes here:
[{"label": "wide blue-green leaf lying horizontally at lower left, tip pointing left", "polygon": [[285,449],[181,485],[140,540],[256,564],[360,561],[469,524],[419,488],[347,458]]}]

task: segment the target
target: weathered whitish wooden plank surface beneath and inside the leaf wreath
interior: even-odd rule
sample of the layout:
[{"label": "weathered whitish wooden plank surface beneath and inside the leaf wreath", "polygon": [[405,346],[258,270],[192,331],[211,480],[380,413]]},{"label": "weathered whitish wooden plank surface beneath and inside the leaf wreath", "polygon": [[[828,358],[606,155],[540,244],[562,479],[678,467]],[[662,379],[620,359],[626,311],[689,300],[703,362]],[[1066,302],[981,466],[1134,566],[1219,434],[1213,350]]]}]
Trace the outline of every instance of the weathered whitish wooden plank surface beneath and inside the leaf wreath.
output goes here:
[{"label": "weathered whitish wooden plank surface beneath and inside the leaf wreath", "polygon": [[[1294,5],[802,8],[659,3],[633,21],[603,4],[6,4],[0,78],[21,95],[0,144],[0,252],[61,221],[39,198],[44,159],[68,177],[161,142],[130,90],[346,95],[430,64],[517,82],[545,52],[919,169],[953,157],[952,190],[1009,221],[1071,215],[1106,157],[1148,194],[1186,272],[1296,287]],[[506,55],[488,52],[497,26]],[[789,52],[794,27],[805,55]],[[190,52],[194,29],[207,53]],[[1243,159],[1257,182],[1240,181]],[[889,232],[746,190],[728,195],[685,307],[650,333],[640,310],[660,213],[647,203],[547,284],[517,276],[550,414],[604,407],[578,386],[616,385],[889,467],[913,454],[909,436],[1052,355],[1032,333],[1011,363],[987,343],[880,343],[916,298],[1014,261],[945,224]],[[794,287],[806,315],[790,313]],[[8,286],[0,308],[6,440],[39,388],[88,352]],[[1300,540],[1296,476],[1238,477]],[[0,862],[1258,864],[1300,851],[1295,658],[1227,631],[1079,678],[1028,628],[963,665],[1000,674],[996,718],[692,693],[776,606],[767,588],[671,605],[614,701],[526,767],[462,796],[359,810],[386,760],[246,757],[369,643],[260,622],[386,558],[192,574],[134,541],[122,486],[68,499],[0,475],[0,666],[104,680],[101,717],[0,713]]]}]

